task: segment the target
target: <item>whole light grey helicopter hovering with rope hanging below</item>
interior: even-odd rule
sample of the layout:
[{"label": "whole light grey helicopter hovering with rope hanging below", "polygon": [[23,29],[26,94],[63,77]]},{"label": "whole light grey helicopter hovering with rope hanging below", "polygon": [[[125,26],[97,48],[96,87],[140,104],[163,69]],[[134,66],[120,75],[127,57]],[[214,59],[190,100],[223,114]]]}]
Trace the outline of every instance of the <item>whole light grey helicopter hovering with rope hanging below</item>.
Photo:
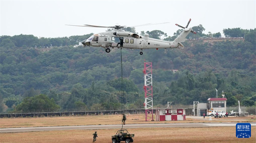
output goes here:
[{"label": "whole light grey helicopter hovering with rope hanging below", "polygon": [[[82,26],[82,27],[97,27],[97,28],[113,28],[113,31],[101,32],[98,34],[93,34],[88,39],[83,40],[81,43],[83,46],[92,46],[92,47],[102,47],[105,48],[107,53],[110,52],[110,48],[129,48],[129,49],[140,49],[140,55],[143,54],[142,50],[144,49],[156,49],[159,48],[184,48],[181,42],[185,42],[186,36],[189,32],[196,34],[192,28],[188,28],[191,19],[189,19],[186,27],[179,26],[183,28],[183,31],[176,39],[173,41],[164,41],[160,39],[149,38],[148,34],[141,36],[136,33],[131,33],[129,31],[124,31],[122,28],[126,26],[96,26],[96,25],[70,25],[70,26]],[[169,23],[169,22],[165,22]],[[159,23],[163,24],[163,23]],[[146,25],[152,25],[151,23]],[[141,26],[141,25],[138,25]],[[136,27],[136,26],[133,26]]]}]

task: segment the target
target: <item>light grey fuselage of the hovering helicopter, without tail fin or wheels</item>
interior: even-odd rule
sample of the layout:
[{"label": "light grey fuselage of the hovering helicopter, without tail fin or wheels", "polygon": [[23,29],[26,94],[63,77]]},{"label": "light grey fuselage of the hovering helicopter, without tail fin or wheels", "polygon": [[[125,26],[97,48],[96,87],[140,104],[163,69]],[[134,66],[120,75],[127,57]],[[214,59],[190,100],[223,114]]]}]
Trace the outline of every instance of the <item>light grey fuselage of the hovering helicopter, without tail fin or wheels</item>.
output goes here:
[{"label": "light grey fuselage of the hovering helicopter, without tail fin or wheels", "polygon": [[82,44],[103,48],[121,47],[134,49],[177,48],[179,46],[179,44],[175,42],[149,38],[148,34],[141,36],[124,30],[114,30],[94,34],[92,39],[88,38],[87,40],[82,41]]}]

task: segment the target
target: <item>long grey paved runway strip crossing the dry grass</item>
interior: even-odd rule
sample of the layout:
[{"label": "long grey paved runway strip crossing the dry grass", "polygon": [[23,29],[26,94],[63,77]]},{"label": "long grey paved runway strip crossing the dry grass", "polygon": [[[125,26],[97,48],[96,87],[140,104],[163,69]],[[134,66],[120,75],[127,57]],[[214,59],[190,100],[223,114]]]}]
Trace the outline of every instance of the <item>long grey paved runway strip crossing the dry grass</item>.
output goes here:
[{"label": "long grey paved runway strip crossing the dry grass", "polygon": [[[256,123],[250,123],[256,126]],[[156,128],[156,127],[222,127],[233,126],[236,123],[171,123],[171,124],[126,124],[127,128]],[[21,127],[21,128],[0,128],[0,133],[50,131],[50,130],[95,130],[95,129],[120,129],[122,125],[86,125],[86,126],[54,126],[54,127]]]}]

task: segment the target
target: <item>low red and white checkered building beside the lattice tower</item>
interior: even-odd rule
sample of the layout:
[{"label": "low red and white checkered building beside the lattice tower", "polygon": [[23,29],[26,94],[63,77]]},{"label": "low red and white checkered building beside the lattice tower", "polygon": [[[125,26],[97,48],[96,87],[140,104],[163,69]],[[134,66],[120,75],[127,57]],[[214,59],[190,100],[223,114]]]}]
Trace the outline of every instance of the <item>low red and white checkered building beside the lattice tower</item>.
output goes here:
[{"label": "low red and white checkered building beside the lattice tower", "polygon": [[186,120],[185,109],[155,109],[156,121],[180,121]]}]

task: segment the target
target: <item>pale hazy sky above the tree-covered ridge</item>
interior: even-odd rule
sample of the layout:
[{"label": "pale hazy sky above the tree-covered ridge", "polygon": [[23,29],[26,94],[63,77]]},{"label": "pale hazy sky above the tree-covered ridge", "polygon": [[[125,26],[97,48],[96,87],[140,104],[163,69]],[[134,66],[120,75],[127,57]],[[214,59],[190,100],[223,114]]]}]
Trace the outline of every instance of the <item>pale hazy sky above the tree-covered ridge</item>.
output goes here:
[{"label": "pale hazy sky above the tree-covered ridge", "polygon": [[136,32],[161,30],[173,36],[179,27],[203,25],[207,34],[222,33],[225,28],[256,27],[256,0],[220,1],[71,1],[0,0],[0,36],[33,34],[37,37],[64,37],[104,32],[107,28],[69,25],[134,26]]}]

